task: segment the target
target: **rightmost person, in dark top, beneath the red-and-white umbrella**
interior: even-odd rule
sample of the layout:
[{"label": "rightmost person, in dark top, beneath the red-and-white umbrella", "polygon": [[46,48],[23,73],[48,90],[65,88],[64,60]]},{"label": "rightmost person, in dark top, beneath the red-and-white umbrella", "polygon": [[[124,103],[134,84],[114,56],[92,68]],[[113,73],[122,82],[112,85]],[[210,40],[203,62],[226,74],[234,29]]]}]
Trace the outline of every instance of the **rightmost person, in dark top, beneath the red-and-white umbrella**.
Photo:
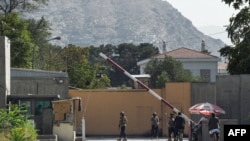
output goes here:
[{"label": "rightmost person, in dark top, beneath the red-and-white umbrella", "polygon": [[211,138],[213,138],[213,135],[216,134],[217,141],[220,138],[219,124],[220,124],[219,118],[216,117],[214,113],[212,113],[208,121],[208,131]]}]

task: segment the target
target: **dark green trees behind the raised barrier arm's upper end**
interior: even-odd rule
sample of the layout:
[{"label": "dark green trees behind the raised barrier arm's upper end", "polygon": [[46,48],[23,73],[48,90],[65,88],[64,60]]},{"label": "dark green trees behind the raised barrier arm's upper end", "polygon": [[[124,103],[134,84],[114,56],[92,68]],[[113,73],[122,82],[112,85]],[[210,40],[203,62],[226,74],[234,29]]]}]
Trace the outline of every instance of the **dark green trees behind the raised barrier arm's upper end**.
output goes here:
[{"label": "dark green trees behind the raised barrier arm's upper end", "polygon": [[139,45],[134,45],[131,43],[123,43],[118,46],[113,46],[111,44],[101,45],[100,47],[89,47],[89,61],[90,63],[101,63],[106,65],[104,70],[105,74],[110,77],[111,86],[118,87],[121,85],[129,86],[130,79],[122,74],[111,64],[108,64],[106,60],[99,56],[102,52],[117,64],[123,67],[130,74],[139,74],[140,70],[137,66],[137,62],[143,59],[150,58],[153,55],[159,53],[158,49],[152,44],[142,43]]}]

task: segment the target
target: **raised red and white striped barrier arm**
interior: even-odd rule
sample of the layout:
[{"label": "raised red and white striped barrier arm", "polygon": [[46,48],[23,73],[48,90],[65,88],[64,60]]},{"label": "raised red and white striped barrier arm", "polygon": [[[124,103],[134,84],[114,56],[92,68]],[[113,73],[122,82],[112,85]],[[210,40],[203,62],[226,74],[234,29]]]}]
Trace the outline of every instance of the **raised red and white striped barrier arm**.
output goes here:
[{"label": "raised red and white striped barrier arm", "polygon": [[[127,75],[130,79],[132,79],[134,82],[137,82],[141,87],[143,87],[144,89],[146,89],[150,94],[152,94],[155,98],[157,98],[158,100],[160,100],[161,102],[163,102],[164,104],[166,104],[168,107],[170,107],[174,112],[178,113],[180,112],[178,109],[176,109],[173,105],[171,105],[169,102],[167,102],[166,100],[164,100],[162,97],[160,97],[156,92],[154,92],[153,90],[151,90],[148,86],[146,86],[145,84],[143,84],[140,80],[136,79],[135,77],[133,77],[130,73],[128,73],[126,70],[124,70],[120,65],[118,65],[117,63],[115,63],[112,59],[110,59],[109,57],[107,57],[105,54],[100,53],[99,54],[102,58],[104,58],[106,61],[108,61],[109,63],[111,63],[112,65],[114,65],[119,71],[121,71],[122,73],[124,73],[125,75]],[[182,116],[185,118],[185,120],[190,123],[193,122],[189,117],[187,117],[185,114],[182,114]],[[194,123],[194,122],[193,122]]]}]

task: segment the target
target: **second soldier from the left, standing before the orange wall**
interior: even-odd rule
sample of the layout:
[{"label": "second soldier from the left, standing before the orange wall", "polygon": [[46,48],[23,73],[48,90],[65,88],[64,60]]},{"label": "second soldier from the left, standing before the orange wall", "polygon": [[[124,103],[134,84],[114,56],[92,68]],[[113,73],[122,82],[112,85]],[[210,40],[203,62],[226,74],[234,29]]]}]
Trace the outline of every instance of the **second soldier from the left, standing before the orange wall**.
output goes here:
[{"label": "second soldier from the left, standing before the orange wall", "polygon": [[160,119],[157,116],[156,112],[153,113],[151,117],[151,136],[152,138],[158,138]]}]

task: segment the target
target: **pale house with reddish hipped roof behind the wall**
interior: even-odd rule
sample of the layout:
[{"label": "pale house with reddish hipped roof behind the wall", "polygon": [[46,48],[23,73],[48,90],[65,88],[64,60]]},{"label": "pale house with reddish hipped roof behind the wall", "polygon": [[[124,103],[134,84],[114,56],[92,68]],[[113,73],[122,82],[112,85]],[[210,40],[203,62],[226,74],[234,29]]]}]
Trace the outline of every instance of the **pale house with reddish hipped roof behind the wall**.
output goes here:
[{"label": "pale house with reddish hipped roof behind the wall", "polygon": [[[215,82],[216,80],[218,62],[221,60],[216,56],[181,47],[155,55],[152,58],[164,59],[165,56],[170,56],[180,61],[185,70],[190,71],[193,76],[200,76],[205,82]],[[145,74],[145,67],[150,60],[151,58],[148,58],[137,62],[137,65],[140,67],[140,74]]]}]

